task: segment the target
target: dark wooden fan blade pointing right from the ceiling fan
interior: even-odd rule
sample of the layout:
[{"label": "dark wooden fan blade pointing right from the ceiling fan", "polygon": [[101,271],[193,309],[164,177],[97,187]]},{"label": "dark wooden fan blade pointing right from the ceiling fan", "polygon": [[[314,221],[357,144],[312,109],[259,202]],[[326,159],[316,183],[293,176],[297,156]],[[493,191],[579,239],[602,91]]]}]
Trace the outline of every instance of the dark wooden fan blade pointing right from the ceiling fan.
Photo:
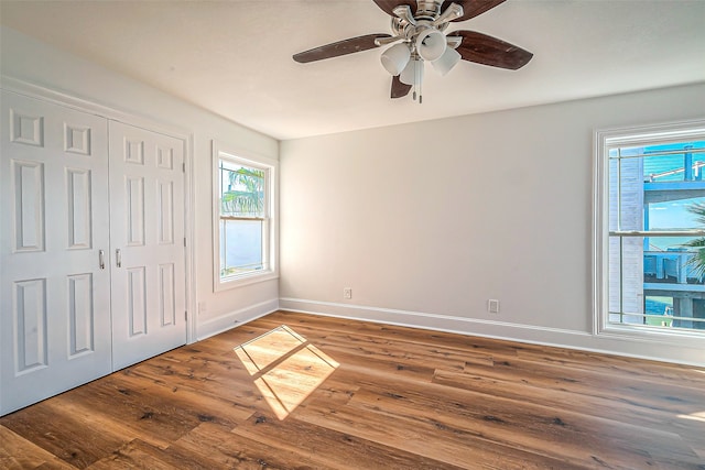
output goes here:
[{"label": "dark wooden fan blade pointing right from the ceiling fan", "polygon": [[529,51],[475,31],[453,31],[448,36],[463,37],[457,52],[468,62],[516,70],[533,57]]}]

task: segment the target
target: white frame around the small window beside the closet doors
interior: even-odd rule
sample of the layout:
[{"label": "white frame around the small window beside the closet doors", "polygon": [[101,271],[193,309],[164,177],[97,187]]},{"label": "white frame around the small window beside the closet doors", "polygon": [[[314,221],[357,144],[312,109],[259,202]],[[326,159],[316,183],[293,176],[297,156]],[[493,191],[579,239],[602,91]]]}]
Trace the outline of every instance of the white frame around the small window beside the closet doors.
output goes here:
[{"label": "white frame around the small window beside the closet doors", "polygon": [[[243,156],[247,155],[247,156]],[[264,234],[262,236],[262,256],[264,269],[247,273],[220,277],[220,160],[251,166],[265,171],[265,215]],[[252,152],[243,152],[217,141],[213,141],[212,162],[213,186],[213,289],[214,292],[241,287],[248,284],[270,281],[279,277],[279,162]]]}]

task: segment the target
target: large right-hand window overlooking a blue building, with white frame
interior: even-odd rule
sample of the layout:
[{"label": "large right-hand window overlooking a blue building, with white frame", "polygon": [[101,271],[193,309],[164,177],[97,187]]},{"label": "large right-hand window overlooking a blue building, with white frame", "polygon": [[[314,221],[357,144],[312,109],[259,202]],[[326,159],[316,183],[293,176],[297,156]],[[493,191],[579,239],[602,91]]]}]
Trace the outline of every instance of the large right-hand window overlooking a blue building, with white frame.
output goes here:
[{"label": "large right-hand window overlooking a blue building, with white frame", "polygon": [[705,336],[705,122],[597,133],[597,332]]}]

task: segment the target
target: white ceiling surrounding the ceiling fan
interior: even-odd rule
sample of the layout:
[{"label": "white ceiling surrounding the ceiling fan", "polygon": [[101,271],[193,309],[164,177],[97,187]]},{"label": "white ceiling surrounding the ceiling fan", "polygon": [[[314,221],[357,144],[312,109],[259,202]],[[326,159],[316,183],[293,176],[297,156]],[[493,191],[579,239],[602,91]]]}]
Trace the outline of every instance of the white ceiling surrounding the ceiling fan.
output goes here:
[{"label": "white ceiling surrounding the ceiling fan", "polygon": [[460,62],[445,77],[426,67],[423,105],[389,98],[382,48],[291,58],[389,33],[371,0],[0,0],[0,22],[280,140],[705,81],[702,0],[508,0],[447,31],[533,59]]}]

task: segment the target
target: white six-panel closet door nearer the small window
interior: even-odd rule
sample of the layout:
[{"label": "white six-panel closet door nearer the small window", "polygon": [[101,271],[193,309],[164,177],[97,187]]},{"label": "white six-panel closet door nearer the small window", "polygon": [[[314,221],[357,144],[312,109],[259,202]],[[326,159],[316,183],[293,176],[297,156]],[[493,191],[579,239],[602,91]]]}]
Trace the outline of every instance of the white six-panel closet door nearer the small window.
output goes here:
[{"label": "white six-panel closet door nearer the small window", "polygon": [[111,121],[113,369],[186,343],[184,142]]}]

